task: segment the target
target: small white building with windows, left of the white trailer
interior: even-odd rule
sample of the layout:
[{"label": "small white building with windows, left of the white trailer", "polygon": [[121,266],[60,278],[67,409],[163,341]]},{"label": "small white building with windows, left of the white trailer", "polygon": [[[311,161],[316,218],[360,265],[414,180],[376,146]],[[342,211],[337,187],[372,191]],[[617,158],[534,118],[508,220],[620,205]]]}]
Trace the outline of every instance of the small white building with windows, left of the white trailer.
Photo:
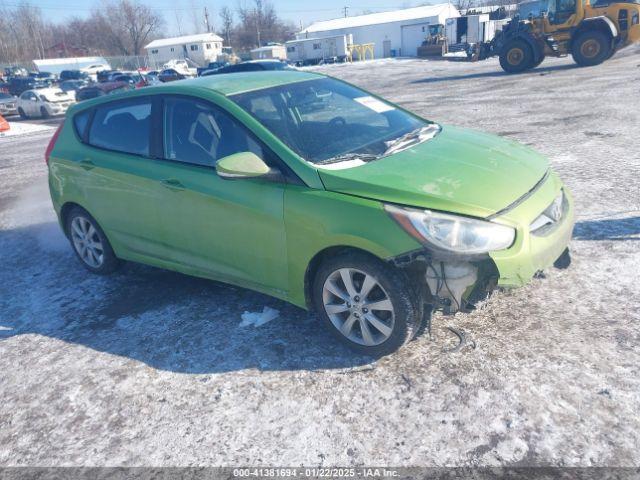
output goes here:
[{"label": "small white building with windows, left of the white trailer", "polygon": [[169,60],[189,59],[200,66],[215,62],[222,53],[222,37],[215,33],[200,33],[184,37],[154,40],[144,47],[151,64],[162,65]]}]

